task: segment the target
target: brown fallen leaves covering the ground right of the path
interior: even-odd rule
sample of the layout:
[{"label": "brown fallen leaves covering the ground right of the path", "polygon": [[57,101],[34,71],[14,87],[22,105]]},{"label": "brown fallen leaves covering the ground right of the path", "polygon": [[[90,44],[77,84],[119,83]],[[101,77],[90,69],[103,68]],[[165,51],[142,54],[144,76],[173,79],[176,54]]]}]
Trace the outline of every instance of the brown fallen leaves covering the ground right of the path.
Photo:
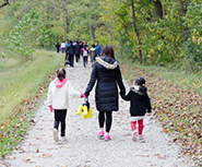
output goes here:
[{"label": "brown fallen leaves covering the ground right of the path", "polygon": [[134,76],[146,79],[154,117],[159,120],[163,131],[182,147],[181,154],[202,162],[202,98],[199,94],[126,63],[121,69],[131,85]]}]

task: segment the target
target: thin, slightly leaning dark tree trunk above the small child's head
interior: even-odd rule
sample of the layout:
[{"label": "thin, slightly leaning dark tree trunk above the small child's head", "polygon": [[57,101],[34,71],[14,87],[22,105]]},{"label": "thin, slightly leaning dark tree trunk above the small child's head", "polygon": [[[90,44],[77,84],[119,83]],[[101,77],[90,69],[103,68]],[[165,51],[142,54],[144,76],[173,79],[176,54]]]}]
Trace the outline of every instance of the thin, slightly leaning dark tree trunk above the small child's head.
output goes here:
[{"label": "thin, slightly leaning dark tree trunk above the small child's head", "polygon": [[142,63],[142,41],[140,37],[139,29],[136,27],[136,21],[135,21],[135,13],[134,13],[134,2],[131,0],[131,7],[132,7],[132,20],[133,20],[133,28],[134,33],[136,34],[136,38],[139,40],[139,57],[140,57],[140,63]]}]

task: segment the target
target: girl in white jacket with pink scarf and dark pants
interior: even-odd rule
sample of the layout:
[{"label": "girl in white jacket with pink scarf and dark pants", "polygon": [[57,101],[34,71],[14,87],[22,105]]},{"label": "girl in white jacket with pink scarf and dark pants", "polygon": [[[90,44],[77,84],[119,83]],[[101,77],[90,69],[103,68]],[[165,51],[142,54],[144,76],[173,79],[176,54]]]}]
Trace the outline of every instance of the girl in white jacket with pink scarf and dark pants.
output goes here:
[{"label": "girl in white jacket with pink scarf and dark pants", "polygon": [[83,93],[73,90],[71,83],[66,79],[66,70],[59,69],[57,77],[51,81],[48,87],[48,107],[55,112],[54,140],[59,141],[58,127],[61,123],[61,139],[66,141],[66,116],[69,108],[69,96],[85,97]]}]

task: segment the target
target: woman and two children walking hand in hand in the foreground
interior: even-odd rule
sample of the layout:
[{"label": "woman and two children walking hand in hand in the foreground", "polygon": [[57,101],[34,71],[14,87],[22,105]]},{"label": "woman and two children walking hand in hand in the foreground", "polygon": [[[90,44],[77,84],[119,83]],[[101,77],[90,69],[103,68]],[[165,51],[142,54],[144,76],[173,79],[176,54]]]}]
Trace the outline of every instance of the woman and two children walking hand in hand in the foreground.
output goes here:
[{"label": "woman and two children walking hand in hand in the foreground", "polygon": [[69,96],[73,95],[87,98],[95,84],[95,103],[99,123],[98,138],[105,141],[110,140],[109,132],[112,122],[112,111],[119,110],[119,87],[120,96],[124,100],[130,100],[132,141],[136,141],[138,138],[138,140],[143,142],[143,119],[145,114],[152,110],[145,80],[143,77],[136,77],[134,85],[126,95],[119,62],[116,60],[114,49],[110,45],[105,45],[100,57],[96,58],[91,79],[84,93],[73,90],[71,83],[66,79],[64,69],[57,71],[57,77],[50,83],[47,94],[49,109],[55,112],[55,141],[59,141],[59,122],[61,122],[61,139],[63,141],[66,140],[66,116],[69,108]]}]

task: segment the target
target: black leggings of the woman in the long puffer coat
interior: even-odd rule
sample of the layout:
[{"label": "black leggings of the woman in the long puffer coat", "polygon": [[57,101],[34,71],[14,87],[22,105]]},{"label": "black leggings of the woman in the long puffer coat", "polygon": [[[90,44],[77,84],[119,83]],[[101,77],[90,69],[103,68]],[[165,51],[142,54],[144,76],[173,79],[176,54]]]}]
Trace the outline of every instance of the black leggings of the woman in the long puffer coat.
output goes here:
[{"label": "black leggings of the woman in the long puffer coat", "polygon": [[98,115],[99,128],[104,128],[106,116],[106,132],[109,133],[112,122],[112,111],[100,112]]}]

